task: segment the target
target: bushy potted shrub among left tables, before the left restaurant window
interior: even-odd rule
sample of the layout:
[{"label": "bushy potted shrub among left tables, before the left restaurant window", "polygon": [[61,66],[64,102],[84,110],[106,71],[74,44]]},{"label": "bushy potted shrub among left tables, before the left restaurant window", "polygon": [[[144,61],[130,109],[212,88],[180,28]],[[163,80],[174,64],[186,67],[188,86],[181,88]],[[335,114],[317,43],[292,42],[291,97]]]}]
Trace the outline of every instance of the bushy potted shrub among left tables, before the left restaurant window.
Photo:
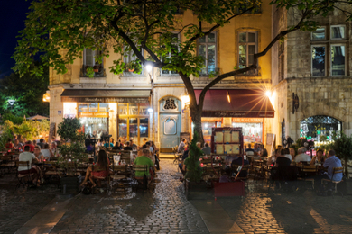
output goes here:
[{"label": "bushy potted shrub among left tables, before the left restaurant window", "polygon": [[67,175],[75,175],[72,163],[87,161],[88,155],[85,154],[86,147],[84,140],[86,136],[83,132],[79,132],[81,124],[79,119],[63,119],[58,126],[58,134],[63,139],[64,145],[60,148],[59,163],[61,168],[65,168]]}]

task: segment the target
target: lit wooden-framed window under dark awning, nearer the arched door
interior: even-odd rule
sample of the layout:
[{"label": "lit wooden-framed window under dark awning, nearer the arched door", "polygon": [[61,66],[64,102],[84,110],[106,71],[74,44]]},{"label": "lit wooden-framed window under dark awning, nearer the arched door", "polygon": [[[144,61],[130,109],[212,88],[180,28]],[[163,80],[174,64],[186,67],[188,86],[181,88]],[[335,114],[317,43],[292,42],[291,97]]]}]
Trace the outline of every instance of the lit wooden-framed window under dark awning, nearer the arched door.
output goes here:
[{"label": "lit wooden-framed window under dark awning, nearer the arched door", "polygon": [[149,104],[118,103],[118,138],[133,139],[140,145],[144,138],[149,137]]}]

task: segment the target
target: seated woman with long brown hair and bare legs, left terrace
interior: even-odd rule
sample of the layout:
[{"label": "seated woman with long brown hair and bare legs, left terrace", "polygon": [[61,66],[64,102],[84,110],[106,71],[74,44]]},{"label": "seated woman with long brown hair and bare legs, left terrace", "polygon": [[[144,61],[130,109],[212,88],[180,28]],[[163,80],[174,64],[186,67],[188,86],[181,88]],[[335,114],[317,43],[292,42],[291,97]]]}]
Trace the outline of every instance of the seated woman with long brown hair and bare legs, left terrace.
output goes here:
[{"label": "seated woman with long brown hair and bare legs, left terrace", "polygon": [[[105,150],[100,150],[98,155],[97,155],[97,165],[100,168],[102,168],[102,171],[93,171],[93,166],[88,166],[87,172],[86,172],[86,177],[84,178],[84,181],[81,186],[84,186],[87,184],[88,179],[90,182],[93,184],[93,187],[95,187],[97,184],[94,183],[94,177],[106,177],[109,175],[108,171],[108,166],[110,164],[109,158],[107,157],[107,151]],[[107,170],[104,170],[104,168],[107,168]]]}]

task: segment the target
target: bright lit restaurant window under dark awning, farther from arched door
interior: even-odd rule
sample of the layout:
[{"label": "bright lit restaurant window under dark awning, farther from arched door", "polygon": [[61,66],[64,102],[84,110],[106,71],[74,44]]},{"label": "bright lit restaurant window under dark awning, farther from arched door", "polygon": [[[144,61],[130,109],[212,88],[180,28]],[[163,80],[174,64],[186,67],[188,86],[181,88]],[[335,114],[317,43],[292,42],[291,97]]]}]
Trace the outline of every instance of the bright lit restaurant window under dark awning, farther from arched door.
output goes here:
[{"label": "bright lit restaurant window under dark awning, farther from arched door", "polygon": [[99,138],[108,133],[108,103],[79,103],[79,121],[86,134]]}]

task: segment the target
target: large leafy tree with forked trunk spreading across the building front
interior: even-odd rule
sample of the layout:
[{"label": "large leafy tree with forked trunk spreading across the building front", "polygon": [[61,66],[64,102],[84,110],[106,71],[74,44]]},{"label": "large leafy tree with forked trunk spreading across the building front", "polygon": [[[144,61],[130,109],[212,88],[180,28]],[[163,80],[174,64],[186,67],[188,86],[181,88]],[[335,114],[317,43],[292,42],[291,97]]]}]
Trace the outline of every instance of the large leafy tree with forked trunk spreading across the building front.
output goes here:
[{"label": "large leafy tree with forked trunk spreading across the building front", "polygon": [[[259,53],[254,55],[253,65],[214,76],[202,90],[197,103],[190,76],[199,76],[204,67],[204,58],[196,53],[196,42],[212,31],[236,20],[246,12],[255,11],[259,1],[247,0],[34,0],[30,7],[26,27],[21,31],[21,40],[14,52],[15,71],[23,74],[31,64],[31,58],[42,53],[45,65],[58,73],[65,73],[67,65],[81,58],[85,48],[102,51],[97,60],[102,61],[110,52],[126,56],[133,51],[137,58],[125,65],[123,59],[116,59],[111,72],[120,74],[125,67],[140,70],[141,65],[150,63],[153,67],[177,72],[190,95],[190,116],[195,131],[203,140],[201,113],[208,89],[221,80],[238,76],[257,67],[258,58],[264,56],[278,40],[292,31],[312,31],[317,28],[313,17],[343,9],[348,1],[338,0],[272,0],[271,4],[294,11],[297,22],[280,31]],[[244,7],[245,5],[245,7]],[[244,9],[244,10],[243,10]],[[184,25],[179,11],[191,11],[198,23]],[[342,10],[343,11],[343,10]],[[343,11],[350,20],[351,14]],[[202,25],[211,28],[204,30]],[[180,41],[170,31],[184,33],[187,40]],[[50,35],[50,37],[48,36]],[[143,52],[148,56],[144,58]],[[171,52],[171,56],[170,56]],[[42,68],[36,67],[32,74],[42,75]],[[92,74],[92,70],[89,73]]]}]

